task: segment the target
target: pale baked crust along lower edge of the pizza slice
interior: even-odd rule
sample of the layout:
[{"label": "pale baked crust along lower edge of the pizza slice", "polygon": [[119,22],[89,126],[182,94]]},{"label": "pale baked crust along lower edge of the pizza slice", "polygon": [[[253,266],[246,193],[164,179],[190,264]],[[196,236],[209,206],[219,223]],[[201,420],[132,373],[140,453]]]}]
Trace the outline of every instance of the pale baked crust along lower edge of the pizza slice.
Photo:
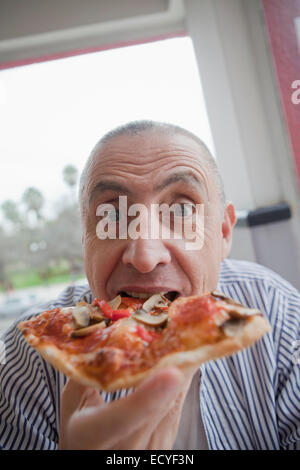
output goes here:
[{"label": "pale baked crust along lower edge of the pizza slice", "polygon": [[101,377],[99,377],[99,380],[96,380],[87,375],[81,366],[78,367],[75,355],[72,356],[65,353],[52,345],[37,344],[39,340],[32,334],[26,335],[26,339],[29,344],[39,351],[46,361],[74,381],[89,387],[113,392],[121,388],[134,387],[155,371],[164,367],[175,366],[184,370],[190,366],[200,366],[204,362],[234,354],[241,349],[251,346],[269,331],[270,326],[268,322],[262,316],[255,315],[249,318],[234,336],[226,337],[216,343],[203,345],[190,351],[168,354],[154,367],[134,375],[128,373],[126,377],[120,377],[106,385],[101,383]]}]

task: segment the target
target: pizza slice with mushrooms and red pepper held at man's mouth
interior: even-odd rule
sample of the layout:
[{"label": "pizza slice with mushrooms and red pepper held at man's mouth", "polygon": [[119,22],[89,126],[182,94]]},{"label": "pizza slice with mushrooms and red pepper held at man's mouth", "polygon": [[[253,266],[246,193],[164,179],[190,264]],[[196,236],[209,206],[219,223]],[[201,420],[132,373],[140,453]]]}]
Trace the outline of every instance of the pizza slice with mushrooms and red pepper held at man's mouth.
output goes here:
[{"label": "pizza slice with mushrooms and red pepper held at man's mouth", "polygon": [[19,328],[55,368],[105,391],[136,386],[158,368],[200,366],[236,353],[270,330],[259,310],[220,292],[174,301],[121,293],[110,302],[48,310]]}]

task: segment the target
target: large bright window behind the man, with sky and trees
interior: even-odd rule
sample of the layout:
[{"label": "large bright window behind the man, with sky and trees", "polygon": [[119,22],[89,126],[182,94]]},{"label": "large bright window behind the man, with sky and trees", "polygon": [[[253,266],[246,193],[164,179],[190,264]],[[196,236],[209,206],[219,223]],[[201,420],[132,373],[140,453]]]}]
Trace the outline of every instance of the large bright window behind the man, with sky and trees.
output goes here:
[{"label": "large bright window behind the man, with sky and trees", "polygon": [[[76,184],[106,131],[135,119],[168,121],[213,151],[188,37],[1,71],[0,105],[2,296],[36,286],[48,300],[49,286],[53,297],[54,285],[61,291],[83,276]],[[77,226],[74,243],[62,214]]]}]

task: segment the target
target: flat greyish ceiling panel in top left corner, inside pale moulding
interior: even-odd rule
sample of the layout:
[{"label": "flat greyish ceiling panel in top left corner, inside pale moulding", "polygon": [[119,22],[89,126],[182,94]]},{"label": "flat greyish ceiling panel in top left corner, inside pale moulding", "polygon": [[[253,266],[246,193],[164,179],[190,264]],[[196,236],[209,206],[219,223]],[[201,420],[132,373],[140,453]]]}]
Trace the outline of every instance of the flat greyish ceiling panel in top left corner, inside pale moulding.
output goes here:
[{"label": "flat greyish ceiling panel in top left corner, inside pale moulding", "polygon": [[0,39],[120,20],[168,10],[168,0],[1,0]]}]

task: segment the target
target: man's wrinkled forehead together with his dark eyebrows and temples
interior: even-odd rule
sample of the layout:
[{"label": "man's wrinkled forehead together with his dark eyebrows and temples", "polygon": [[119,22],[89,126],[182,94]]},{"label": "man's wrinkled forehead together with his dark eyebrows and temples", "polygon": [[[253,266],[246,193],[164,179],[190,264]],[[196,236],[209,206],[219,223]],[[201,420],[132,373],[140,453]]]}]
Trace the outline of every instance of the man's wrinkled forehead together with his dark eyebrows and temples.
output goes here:
[{"label": "man's wrinkled forehead together with his dark eyebrows and temples", "polygon": [[212,158],[205,144],[189,135],[149,130],[117,135],[94,148],[82,181],[82,196],[89,205],[94,196],[107,191],[134,199],[140,193],[159,194],[168,187],[179,194],[189,186],[189,191],[210,201],[218,193]]}]

